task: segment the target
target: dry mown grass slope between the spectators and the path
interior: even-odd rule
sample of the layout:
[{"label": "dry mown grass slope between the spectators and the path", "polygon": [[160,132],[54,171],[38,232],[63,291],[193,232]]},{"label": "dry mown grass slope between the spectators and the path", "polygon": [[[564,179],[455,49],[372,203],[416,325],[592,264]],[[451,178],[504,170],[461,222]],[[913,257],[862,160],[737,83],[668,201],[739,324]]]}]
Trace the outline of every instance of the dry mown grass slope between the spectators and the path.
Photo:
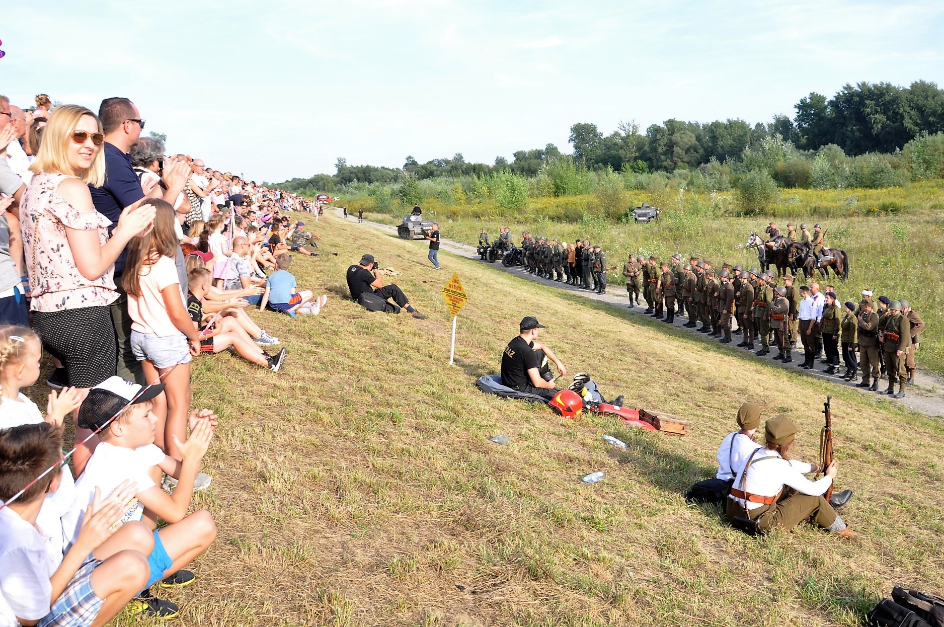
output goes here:
[{"label": "dry mown grass slope between the spectators and the path", "polygon": [[[213,483],[195,500],[219,536],[197,582],[164,593],[184,624],[851,627],[893,584],[944,589],[936,421],[447,252],[432,273],[420,242],[333,217],[316,229],[340,255],[296,255],[292,271],[329,293],[325,313],[253,314],[289,348],[283,370],[228,353],[194,362],[194,406],[220,415]],[[364,251],[403,272],[428,320],[340,298]],[[440,290],[453,271],[470,300],[450,367]],[[473,381],[497,371],[526,314],[571,371],[682,416],[692,435],[481,394]],[[860,542],[810,528],[755,539],[684,503],[741,402],[792,412],[798,456],[813,459],[827,394]],[[498,433],[511,443],[488,442]],[[595,470],[602,483],[580,481]]]}]

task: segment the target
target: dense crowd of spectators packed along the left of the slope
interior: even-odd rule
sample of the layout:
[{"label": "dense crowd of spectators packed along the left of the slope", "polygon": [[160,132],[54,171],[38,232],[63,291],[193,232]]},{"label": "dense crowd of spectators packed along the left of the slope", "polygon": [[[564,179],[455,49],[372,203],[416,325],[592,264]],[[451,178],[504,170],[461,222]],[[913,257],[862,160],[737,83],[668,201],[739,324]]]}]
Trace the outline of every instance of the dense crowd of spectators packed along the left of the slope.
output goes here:
[{"label": "dense crowd of spectators packed along the left of the slope", "polygon": [[[246,308],[327,304],[288,272],[320,237],[285,213],[317,204],[166,155],[145,124],[127,98],[0,95],[0,627],[176,616],[151,590],[191,584],[216,533],[188,515],[217,424],[191,409],[190,362],[231,347],[278,372],[287,351]],[[43,350],[45,415],[21,392]]]}]

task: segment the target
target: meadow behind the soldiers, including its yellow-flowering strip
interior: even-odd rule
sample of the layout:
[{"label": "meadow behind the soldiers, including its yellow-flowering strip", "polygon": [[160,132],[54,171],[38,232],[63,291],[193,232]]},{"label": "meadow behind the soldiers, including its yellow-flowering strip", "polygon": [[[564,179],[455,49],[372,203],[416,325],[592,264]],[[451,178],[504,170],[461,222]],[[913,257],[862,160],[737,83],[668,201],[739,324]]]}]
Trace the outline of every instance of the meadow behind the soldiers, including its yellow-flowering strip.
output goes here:
[{"label": "meadow behind the soldiers, including its yellow-flowering strip", "polygon": [[[495,215],[494,207],[490,210],[493,214],[489,214],[488,208],[481,205],[442,207],[435,201],[427,203],[424,214],[444,223],[444,237],[468,244],[478,242],[482,227],[494,238],[499,226],[507,226],[512,229],[515,244],[520,243],[522,230],[566,242],[588,238],[603,246],[611,265],[626,261],[630,252],[647,257],[654,253],[660,259],[680,252],[686,261],[694,254],[716,265],[730,262],[756,266],[756,251],[745,249],[744,244],[751,231],[763,234],[770,218],[728,215],[728,205],[733,203],[730,194],[715,196],[714,202],[721,208],[717,212],[699,212],[699,208],[713,202],[712,198],[685,193],[685,211],[680,211],[678,197],[673,204],[660,203],[668,209],[659,223],[649,225],[623,224],[580,213],[569,219],[575,211],[572,208],[592,203],[592,196],[536,198],[529,212],[516,217]],[[644,200],[653,202],[657,198],[645,192],[634,193],[633,206]],[[352,199],[348,209],[356,212],[361,202]],[[820,280],[821,284],[836,285],[840,302],[858,302],[865,287],[874,289],[876,296],[907,298],[928,326],[921,336],[919,367],[944,374],[944,181],[889,190],[784,190],[774,212],[780,216],[775,220],[784,234],[786,222],[806,222],[811,232],[813,225],[821,222],[827,243],[847,252],[849,281],[843,285],[835,277]],[[564,217],[556,221],[547,215]],[[388,224],[398,223],[401,217],[375,212],[367,216]],[[624,282],[619,272],[611,273],[610,280]]]}]

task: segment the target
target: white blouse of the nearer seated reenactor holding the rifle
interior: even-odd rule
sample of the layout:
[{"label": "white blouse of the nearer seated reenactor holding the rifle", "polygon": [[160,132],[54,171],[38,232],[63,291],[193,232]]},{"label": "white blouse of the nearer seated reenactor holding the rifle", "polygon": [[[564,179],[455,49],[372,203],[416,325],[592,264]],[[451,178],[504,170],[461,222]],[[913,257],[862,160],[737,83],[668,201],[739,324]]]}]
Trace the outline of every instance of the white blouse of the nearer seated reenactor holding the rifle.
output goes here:
[{"label": "white blouse of the nearer seated reenactor holding the rifle", "polygon": [[[733,487],[743,490],[748,495],[758,497],[775,497],[784,488],[784,485],[792,487],[800,494],[807,494],[818,497],[826,493],[829,486],[833,484],[833,478],[824,475],[822,479],[811,482],[803,475],[813,472],[813,465],[795,460],[787,461],[780,456],[780,453],[774,450],[767,450],[764,447],[756,449],[750,466],[742,467],[737,472]],[[751,451],[753,452],[753,451]],[[749,455],[750,457],[750,455]],[[765,457],[776,457],[777,459],[764,459]],[[747,470],[748,476],[741,485],[741,475]],[[740,505],[749,510],[762,507],[763,503],[737,499]]]}]

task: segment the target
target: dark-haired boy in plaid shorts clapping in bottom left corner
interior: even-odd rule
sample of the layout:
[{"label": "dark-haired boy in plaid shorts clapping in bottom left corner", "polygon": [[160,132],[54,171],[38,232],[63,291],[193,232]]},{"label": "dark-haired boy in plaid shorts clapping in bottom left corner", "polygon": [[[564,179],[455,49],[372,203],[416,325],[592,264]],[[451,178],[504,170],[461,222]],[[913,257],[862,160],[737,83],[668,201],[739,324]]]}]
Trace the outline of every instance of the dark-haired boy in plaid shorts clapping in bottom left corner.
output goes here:
[{"label": "dark-haired boy in plaid shorts clapping in bottom left corner", "polygon": [[104,625],[147,583],[151,534],[140,522],[115,528],[131,496],[127,484],[107,499],[94,491],[68,552],[49,544],[39,515],[62,475],[29,483],[59,463],[59,427],[0,429],[0,501],[25,489],[0,509],[0,625]]}]

